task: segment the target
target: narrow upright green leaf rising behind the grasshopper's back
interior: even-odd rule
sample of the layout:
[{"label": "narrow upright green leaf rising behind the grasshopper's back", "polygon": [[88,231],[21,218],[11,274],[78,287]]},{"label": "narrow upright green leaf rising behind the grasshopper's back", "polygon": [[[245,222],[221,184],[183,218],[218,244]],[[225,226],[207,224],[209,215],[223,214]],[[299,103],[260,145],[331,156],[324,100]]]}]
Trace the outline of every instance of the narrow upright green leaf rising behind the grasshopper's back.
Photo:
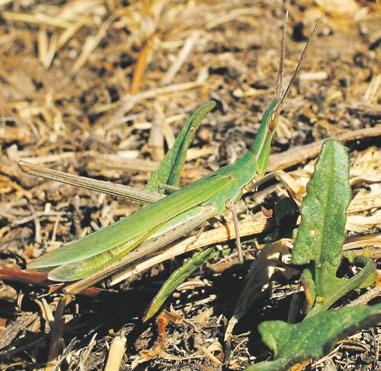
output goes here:
[{"label": "narrow upright green leaf rising behind the grasshopper's back", "polygon": [[145,189],[163,193],[163,184],[171,186],[179,184],[180,172],[184,166],[189,145],[202,120],[215,106],[216,103],[211,101],[200,105],[196,109],[177,136],[173,147],[166,153],[160,165],[151,174]]}]

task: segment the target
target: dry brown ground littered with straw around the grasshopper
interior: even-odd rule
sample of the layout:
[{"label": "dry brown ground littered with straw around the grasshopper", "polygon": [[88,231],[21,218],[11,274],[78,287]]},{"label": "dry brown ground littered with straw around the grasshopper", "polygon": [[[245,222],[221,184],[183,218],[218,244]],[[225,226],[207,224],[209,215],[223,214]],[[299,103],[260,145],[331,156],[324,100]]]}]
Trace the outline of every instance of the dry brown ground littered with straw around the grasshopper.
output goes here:
[{"label": "dry brown ground littered with straw around the grasshopper", "polygon": [[[0,368],[44,368],[51,357],[51,369],[57,362],[62,369],[103,369],[118,336],[127,339],[123,370],[240,370],[269,359],[257,326],[287,319],[291,296],[301,290],[297,272],[291,279],[280,274],[255,301],[234,330],[225,364],[224,333],[258,247],[292,236],[295,213],[274,221],[277,207],[290,200],[280,185],[248,193],[239,205],[241,222],[262,225],[244,239],[245,263],[232,252],[197,270],[165,303],[169,314],[161,321],[175,319],[165,329],[156,319],[143,323],[144,311],[190,254],[95,296],[77,296],[64,309],[65,324],[53,325],[62,294],[49,294],[45,281],[15,272],[139,205],[26,175],[17,162],[142,188],[189,114],[212,99],[217,107],[189,150],[182,182],[233,163],[253,141],[274,97],[282,2],[3,0],[0,7]],[[372,238],[357,248],[367,246],[377,262],[380,4],[297,0],[287,8],[286,77],[325,16],[285,105],[269,168],[286,170],[301,199],[317,153],[308,145],[337,136],[345,141],[355,196],[347,235]],[[264,219],[271,227],[260,224]],[[377,369],[380,340],[380,327],[364,329],[303,367]]]}]

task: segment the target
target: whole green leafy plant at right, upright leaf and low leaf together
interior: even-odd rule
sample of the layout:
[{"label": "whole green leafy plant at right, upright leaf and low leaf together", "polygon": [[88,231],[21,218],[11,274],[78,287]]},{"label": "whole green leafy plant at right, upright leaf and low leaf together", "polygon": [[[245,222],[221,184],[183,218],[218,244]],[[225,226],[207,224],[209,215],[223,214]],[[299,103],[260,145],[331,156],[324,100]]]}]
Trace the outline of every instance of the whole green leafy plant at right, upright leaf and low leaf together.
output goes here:
[{"label": "whole green leafy plant at right, upright leaf and low leaf together", "polygon": [[366,257],[352,259],[352,263],[362,268],[353,277],[337,276],[343,259],[350,199],[348,153],[341,143],[329,139],[323,145],[307,186],[292,251],[292,262],[305,267],[306,317],[293,324],[261,323],[259,332],[274,352],[274,360],[259,362],[248,370],[288,370],[297,362],[322,357],[341,337],[380,321],[381,304],[328,311],[349,291],[372,285],[376,279],[376,267]]}]

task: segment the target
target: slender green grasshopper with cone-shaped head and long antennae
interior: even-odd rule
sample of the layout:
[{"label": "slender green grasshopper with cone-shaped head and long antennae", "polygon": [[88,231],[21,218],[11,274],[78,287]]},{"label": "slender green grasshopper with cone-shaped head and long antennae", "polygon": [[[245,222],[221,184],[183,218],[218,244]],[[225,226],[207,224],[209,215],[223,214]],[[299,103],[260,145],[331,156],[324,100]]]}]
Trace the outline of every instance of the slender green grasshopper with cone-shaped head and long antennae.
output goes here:
[{"label": "slender green grasshopper with cone-shaped head and long antennae", "polygon": [[[258,134],[250,149],[234,164],[223,167],[184,188],[174,190],[168,195],[157,192],[160,189],[160,179],[163,179],[161,174],[163,166],[160,166],[159,170],[152,175],[151,181],[146,187],[148,190],[136,191],[131,187],[123,185],[114,185],[114,187],[109,182],[83,179],[83,177],[20,162],[20,167],[27,173],[150,203],[114,224],[82,239],[70,242],[60,249],[46,253],[29,264],[28,268],[48,271],[48,277],[53,281],[78,281],[67,287],[67,289],[70,288],[68,291],[76,293],[115,273],[127,264],[183,237],[203,225],[210,218],[221,216],[228,209],[234,211],[234,204],[241,199],[246,188],[255,188],[268,178],[265,176],[265,172],[278,118],[316,29],[317,25],[312,31],[291,80],[283,92],[284,31],[277,94],[263,114]],[[200,106],[191,117],[190,122],[201,122],[214,105],[214,102],[209,102]],[[184,148],[180,147],[184,145],[187,148],[189,145],[187,141],[194,134],[192,125],[188,129],[191,132],[185,132],[182,138],[185,138],[185,142],[176,140],[175,146],[177,144],[177,148],[171,150],[177,151],[176,154],[183,157],[185,157]],[[166,165],[169,165],[167,168],[170,169],[164,178],[168,185],[177,182],[184,161],[184,158],[180,159],[176,163],[177,165],[175,164],[176,166],[168,164],[174,158],[175,152],[171,153],[171,151],[163,160],[163,163],[167,162]],[[165,185],[164,188],[166,188]],[[236,221],[236,218],[233,220]],[[237,245],[240,247],[238,223],[235,223],[235,227]],[[242,259],[242,253],[240,253],[240,258]]]}]

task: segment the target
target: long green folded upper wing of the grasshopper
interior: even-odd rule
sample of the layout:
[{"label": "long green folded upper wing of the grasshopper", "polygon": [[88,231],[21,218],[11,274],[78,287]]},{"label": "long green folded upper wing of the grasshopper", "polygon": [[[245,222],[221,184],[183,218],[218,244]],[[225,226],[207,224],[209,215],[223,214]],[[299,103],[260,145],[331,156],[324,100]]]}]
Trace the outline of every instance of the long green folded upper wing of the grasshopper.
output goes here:
[{"label": "long green folded upper wing of the grasshopper", "polygon": [[200,179],[117,223],[43,255],[33,261],[29,268],[46,269],[90,258],[127,244],[136,246],[154,233],[160,225],[207,202],[230,183],[231,177],[228,175],[211,175]]}]

